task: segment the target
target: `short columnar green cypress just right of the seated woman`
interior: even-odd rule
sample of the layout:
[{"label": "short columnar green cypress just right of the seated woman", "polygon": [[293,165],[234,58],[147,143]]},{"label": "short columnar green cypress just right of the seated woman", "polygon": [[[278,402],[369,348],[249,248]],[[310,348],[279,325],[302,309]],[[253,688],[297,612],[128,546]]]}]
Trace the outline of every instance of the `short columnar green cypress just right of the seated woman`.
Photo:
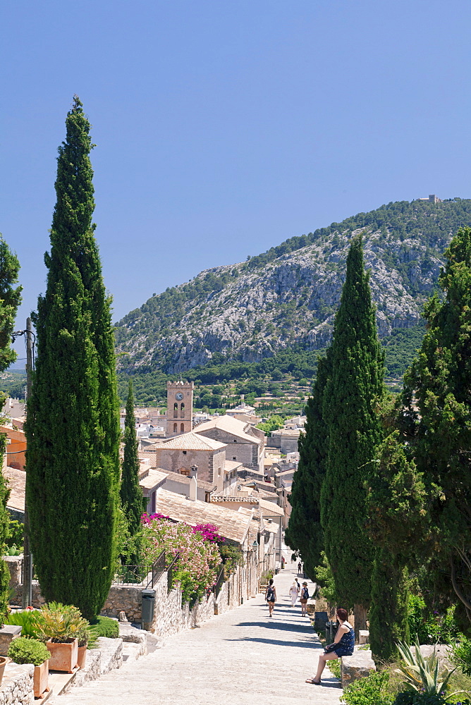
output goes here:
[{"label": "short columnar green cypress just right of the seated woman", "polygon": [[409,641],[407,573],[386,548],[374,553],[369,641],[374,658],[381,661],[397,656],[396,642]]}]

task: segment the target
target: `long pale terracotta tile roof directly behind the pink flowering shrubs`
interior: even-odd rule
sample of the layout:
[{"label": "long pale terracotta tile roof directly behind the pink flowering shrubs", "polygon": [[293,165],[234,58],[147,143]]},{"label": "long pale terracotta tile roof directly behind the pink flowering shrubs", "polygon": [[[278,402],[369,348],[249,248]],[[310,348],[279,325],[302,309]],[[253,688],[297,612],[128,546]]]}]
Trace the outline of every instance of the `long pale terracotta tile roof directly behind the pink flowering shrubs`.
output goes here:
[{"label": "long pale terracotta tile roof directly behind the pink flowering shrubs", "polygon": [[191,501],[176,492],[157,490],[155,510],[176,522],[186,522],[190,526],[214,524],[221,536],[243,544],[249,530],[250,520],[240,513],[219,507],[209,502]]}]

